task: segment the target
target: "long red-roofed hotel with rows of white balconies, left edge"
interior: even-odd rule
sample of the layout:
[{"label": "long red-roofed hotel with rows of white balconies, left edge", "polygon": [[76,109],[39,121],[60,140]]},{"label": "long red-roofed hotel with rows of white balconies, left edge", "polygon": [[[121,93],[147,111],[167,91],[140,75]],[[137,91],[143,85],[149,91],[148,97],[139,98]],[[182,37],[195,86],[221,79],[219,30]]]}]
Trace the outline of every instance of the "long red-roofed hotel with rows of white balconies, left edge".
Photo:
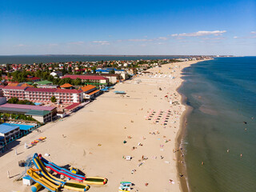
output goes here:
[{"label": "long red-roofed hotel with rows of white balconies, left edge", "polygon": [[61,90],[48,88],[32,88],[20,86],[5,86],[2,88],[3,95],[7,98],[27,99],[31,102],[50,102],[54,96],[59,103],[82,102],[82,90]]}]

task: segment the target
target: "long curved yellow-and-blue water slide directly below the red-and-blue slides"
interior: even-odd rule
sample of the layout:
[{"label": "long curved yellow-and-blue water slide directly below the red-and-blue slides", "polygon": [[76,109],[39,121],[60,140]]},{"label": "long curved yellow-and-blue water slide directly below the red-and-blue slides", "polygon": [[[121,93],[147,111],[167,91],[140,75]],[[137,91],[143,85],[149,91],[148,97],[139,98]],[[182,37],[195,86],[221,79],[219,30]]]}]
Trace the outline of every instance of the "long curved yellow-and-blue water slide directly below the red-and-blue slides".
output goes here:
[{"label": "long curved yellow-and-blue water slide directly below the red-and-blue slides", "polygon": [[[42,174],[42,176],[44,178],[46,178],[47,182],[53,183],[58,186],[62,186],[68,190],[86,191],[86,190],[90,189],[90,186],[88,186],[86,184],[78,183],[78,182],[65,182],[64,180],[62,180],[60,178],[54,177],[54,175],[50,174],[46,170],[46,167],[43,165],[41,159],[38,157],[38,154],[34,154],[33,162],[34,162],[34,165],[38,168],[38,170]],[[43,179],[43,180],[45,180],[45,179]],[[53,191],[55,191],[55,190],[53,190]]]}]

